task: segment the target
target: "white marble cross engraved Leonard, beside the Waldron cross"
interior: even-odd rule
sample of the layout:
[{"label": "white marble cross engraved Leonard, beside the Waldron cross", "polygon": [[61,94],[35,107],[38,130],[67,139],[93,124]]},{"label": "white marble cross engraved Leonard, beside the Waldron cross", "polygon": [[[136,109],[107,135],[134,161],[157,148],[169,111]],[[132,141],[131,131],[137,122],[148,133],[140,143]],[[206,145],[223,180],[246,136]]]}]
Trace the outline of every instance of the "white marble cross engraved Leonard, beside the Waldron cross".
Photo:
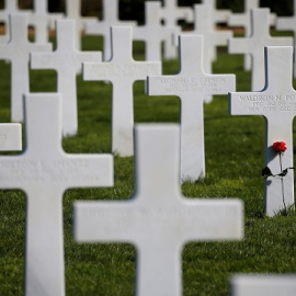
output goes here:
[{"label": "white marble cross engraved Leonard, beside the Waldron cross", "polygon": [[181,180],[205,175],[205,98],[227,94],[236,89],[235,75],[207,75],[203,71],[203,36],[181,35],[180,71],[175,76],[147,79],[149,95],[178,95],[181,100]]}]

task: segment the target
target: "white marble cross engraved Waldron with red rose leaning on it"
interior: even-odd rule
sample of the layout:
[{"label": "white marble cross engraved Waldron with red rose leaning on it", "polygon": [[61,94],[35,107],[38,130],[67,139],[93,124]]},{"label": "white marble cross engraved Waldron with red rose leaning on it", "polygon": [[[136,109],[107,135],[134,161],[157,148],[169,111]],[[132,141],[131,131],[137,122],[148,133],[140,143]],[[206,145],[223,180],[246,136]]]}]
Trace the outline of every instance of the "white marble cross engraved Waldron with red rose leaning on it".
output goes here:
[{"label": "white marble cross engraved Waldron with red rose leaning on it", "polygon": [[[276,174],[281,172],[280,158],[273,150],[273,143],[285,141],[283,169],[293,166],[293,119],[296,115],[296,91],[292,84],[293,47],[271,46],[265,49],[265,87],[259,92],[231,92],[229,111],[231,115],[263,115],[265,130],[265,166]],[[259,168],[260,170],[260,168]],[[294,204],[294,172],[284,178],[286,206]],[[284,209],[280,178],[264,181],[264,209],[269,216]]]}]

